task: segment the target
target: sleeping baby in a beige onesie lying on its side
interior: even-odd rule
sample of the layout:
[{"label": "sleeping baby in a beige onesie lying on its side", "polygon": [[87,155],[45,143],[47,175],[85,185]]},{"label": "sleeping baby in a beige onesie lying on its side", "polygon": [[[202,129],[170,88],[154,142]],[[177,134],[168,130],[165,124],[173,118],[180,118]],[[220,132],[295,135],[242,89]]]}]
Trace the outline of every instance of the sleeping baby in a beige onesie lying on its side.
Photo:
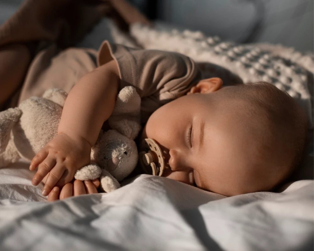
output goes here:
[{"label": "sleeping baby in a beige onesie lying on its side", "polygon": [[[0,50],[2,60],[7,58],[0,70],[4,90],[12,86],[9,82],[18,81],[14,77],[36,72],[40,53],[29,67],[32,48],[31,43],[15,43]],[[154,139],[162,150],[163,177],[232,196],[271,191],[300,163],[306,117],[294,99],[271,83],[223,87],[218,77],[202,79],[187,56],[108,41],[100,46],[92,69],[87,67],[90,54],[85,49],[67,50],[55,56],[55,68],[36,77],[37,91],[45,86],[69,93],[57,136],[30,164],[30,170],[37,168],[32,184],[44,181],[42,195],[49,195],[49,200],[97,192],[98,180],[72,180],[76,170],[89,164],[91,147],[125,86],[134,86],[141,97],[140,138]],[[69,61],[62,63],[65,55],[76,58],[75,72],[86,71],[74,85],[47,78],[67,79],[73,73]],[[10,64],[19,66],[14,77],[4,70],[13,68]],[[19,100],[40,96],[30,90],[24,88]]]}]

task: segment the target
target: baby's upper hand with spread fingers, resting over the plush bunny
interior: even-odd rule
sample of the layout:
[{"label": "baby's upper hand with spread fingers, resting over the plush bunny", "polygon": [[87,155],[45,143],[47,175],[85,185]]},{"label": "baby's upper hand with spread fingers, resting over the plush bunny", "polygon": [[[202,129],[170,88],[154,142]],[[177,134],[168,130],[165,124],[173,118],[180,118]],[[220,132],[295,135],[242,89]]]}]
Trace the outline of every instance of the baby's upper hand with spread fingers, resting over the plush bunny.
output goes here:
[{"label": "baby's upper hand with spread fingers, resting over the plush bunny", "polygon": [[49,173],[42,190],[42,195],[47,196],[55,185],[62,187],[71,182],[76,170],[90,163],[90,151],[85,139],[58,134],[31,161],[30,170],[38,167],[32,184],[37,186]]}]

